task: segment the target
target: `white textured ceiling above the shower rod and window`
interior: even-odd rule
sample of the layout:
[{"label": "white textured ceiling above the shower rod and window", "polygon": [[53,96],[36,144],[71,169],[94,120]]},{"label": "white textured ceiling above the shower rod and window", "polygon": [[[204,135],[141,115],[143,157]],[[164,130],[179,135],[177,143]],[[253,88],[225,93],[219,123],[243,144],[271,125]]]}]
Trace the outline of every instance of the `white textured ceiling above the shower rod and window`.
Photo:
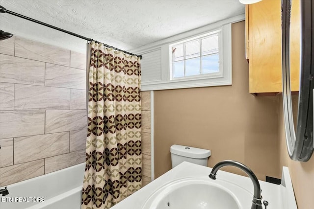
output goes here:
[{"label": "white textured ceiling above the shower rod and window", "polygon": [[[7,10],[130,50],[244,13],[238,0],[0,0]],[[85,51],[86,41],[10,14],[0,28],[28,39]]]}]

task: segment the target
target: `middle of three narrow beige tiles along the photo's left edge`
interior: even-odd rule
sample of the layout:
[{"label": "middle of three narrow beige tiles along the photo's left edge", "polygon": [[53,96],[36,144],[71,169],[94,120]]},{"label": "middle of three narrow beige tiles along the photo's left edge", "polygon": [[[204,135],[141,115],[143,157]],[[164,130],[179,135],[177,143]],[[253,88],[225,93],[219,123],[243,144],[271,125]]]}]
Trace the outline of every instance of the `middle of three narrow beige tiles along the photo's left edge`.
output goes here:
[{"label": "middle of three narrow beige tiles along the photo's left edge", "polygon": [[0,83],[0,110],[14,109],[14,84]]}]

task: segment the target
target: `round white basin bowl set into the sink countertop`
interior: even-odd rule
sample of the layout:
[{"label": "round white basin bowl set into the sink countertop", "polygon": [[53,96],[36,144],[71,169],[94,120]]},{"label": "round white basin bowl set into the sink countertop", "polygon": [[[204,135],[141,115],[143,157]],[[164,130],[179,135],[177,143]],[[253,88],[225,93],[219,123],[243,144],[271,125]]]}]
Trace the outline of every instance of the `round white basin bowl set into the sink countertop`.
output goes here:
[{"label": "round white basin bowl set into the sink countertop", "polygon": [[180,179],[161,186],[142,209],[242,209],[235,194],[209,179]]}]

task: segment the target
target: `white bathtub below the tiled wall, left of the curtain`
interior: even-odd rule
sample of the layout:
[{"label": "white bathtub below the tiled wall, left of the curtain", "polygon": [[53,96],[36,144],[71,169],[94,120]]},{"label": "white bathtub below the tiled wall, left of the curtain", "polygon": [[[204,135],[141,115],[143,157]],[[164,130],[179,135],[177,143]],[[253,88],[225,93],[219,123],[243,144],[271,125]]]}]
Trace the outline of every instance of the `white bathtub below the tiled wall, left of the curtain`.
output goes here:
[{"label": "white bathtub below the tiled wall, left of the curtain", "polygon": [[0,196],[0,208],[80,209],[84,168],[85,163],[80,163],[8,185],[9,194]]}]

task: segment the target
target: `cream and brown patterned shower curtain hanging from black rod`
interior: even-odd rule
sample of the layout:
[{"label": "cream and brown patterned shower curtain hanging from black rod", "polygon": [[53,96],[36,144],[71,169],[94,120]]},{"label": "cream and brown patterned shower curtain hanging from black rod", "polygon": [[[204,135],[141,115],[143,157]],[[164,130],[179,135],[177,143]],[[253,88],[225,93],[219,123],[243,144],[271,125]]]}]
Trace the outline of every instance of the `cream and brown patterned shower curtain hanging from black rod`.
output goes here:
[{"label": "cream and brown patterned shower curtain hanging from black rod", "polygon": [[109,209],[142,185],[140,58],[103,44],[88,45],[81,209]]}]

